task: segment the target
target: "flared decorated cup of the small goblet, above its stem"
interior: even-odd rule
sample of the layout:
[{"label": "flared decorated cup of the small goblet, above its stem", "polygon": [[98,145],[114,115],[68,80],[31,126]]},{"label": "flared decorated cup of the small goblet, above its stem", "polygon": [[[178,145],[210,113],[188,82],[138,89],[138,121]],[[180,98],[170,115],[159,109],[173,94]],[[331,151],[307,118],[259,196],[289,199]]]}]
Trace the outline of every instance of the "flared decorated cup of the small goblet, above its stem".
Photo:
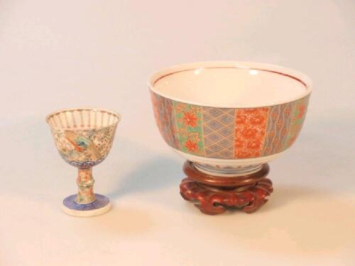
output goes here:
[{"label": "flared decorated cup of the small goblet, above its stem", "polygon": [[80,169],[107,157],[119,120],[119,113],[104,109],[65,109],[46,117],[60,156]]}]

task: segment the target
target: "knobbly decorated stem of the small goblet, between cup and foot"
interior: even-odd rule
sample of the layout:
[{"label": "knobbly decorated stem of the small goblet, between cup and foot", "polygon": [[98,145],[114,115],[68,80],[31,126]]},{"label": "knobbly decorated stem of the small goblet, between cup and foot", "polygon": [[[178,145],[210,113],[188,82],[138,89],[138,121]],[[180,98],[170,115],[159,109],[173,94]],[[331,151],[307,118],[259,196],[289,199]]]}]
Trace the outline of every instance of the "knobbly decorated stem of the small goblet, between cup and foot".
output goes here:
[{"label": "knobbly decorated stem of the small goblet, between cup and foot", "polygon": [[77,204],[89,204],[95,200],[92,168],[79,169],[77,174]]}]

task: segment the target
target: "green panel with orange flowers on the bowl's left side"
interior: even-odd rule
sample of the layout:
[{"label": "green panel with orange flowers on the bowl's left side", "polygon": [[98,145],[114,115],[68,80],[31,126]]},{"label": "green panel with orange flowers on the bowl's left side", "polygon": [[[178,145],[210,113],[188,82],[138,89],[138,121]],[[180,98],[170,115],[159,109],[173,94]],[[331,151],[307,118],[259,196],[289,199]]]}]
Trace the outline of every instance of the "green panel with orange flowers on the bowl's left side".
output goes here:
[{"label": "green panel with orange flowers on the bowl's left side", "polygon": [[174,108],[180,150],[184,153],[204,156],[202,108],[178,101],[174,101]]}]

